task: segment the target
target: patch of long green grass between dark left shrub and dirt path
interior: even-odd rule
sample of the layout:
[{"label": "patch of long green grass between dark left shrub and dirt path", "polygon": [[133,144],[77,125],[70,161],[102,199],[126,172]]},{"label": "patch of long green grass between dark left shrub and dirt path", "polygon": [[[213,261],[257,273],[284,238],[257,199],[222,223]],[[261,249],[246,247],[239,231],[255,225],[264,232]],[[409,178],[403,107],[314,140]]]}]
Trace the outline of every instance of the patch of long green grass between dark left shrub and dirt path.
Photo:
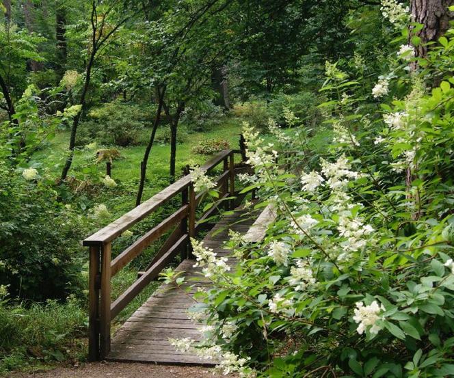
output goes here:
[{"label": "patch of long green grass between dark left shrub and dirt path", "polygon": [[0,300],[0,374],[36,362],[81,360],[86,333],[86,311],[74,297],[31,306]]}]

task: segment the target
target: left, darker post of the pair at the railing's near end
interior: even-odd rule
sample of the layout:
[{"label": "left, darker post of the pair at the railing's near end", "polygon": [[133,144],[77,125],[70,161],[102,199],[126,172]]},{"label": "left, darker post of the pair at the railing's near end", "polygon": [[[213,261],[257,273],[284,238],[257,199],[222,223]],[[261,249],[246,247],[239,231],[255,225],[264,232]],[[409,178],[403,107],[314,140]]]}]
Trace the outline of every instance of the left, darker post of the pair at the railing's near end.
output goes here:
[{"label": "left, darker post of the pair at the railing's near end", "polygon": [[88,274],[88,360],[99,360],[99,284],[100,248],[90,247],[90,267]]}]

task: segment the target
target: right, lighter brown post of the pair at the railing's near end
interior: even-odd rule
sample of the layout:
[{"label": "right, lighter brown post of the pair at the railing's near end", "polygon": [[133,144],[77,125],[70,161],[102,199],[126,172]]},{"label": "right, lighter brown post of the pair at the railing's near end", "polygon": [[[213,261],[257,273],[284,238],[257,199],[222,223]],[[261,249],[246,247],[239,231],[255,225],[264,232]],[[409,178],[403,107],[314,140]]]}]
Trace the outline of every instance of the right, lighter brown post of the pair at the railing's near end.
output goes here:
[{"label": "right, lighter brown post of the pair at the railing's near end", "polygon": [[111,243],[101,249],[101,301],[99,306],[99,351],[101,360],[110,352],[110,263]]}]

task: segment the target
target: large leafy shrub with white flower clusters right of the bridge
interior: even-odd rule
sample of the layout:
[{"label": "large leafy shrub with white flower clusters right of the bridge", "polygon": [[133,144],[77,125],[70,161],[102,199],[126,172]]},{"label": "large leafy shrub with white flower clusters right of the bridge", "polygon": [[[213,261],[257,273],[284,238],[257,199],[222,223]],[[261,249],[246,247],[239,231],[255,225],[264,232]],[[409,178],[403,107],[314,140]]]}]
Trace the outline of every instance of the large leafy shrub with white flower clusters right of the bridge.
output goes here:
[{"label": "large leafy shrub with white flower clusters right of the bridge", "polygon": [[[403,20],[400,5],[382,4]],[[454,31],[443,38],[416,70],[400,47],[373,89],[328,64],[323,156],[307,159],[307,138],[269,145],[244,125],[258,206],[272,204],[277,219],[259,243],[232,234],[235,269],[194,243],[215,288],[196,294],[211,332],[191,348],[219,351],[219,366],[242,376],[454,375]],[[369,96],[356,97],[364,86]],[[285,148],[302,153],[285,161]]]}]

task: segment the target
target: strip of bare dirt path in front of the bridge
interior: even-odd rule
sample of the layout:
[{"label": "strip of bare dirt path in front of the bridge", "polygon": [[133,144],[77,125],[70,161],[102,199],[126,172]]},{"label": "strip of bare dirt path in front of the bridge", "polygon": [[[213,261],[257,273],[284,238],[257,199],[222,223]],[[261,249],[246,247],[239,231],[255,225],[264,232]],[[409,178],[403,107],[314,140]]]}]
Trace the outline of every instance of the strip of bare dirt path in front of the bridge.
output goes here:
[{"label": "strip of bare dirt path in front of the bridge", "polygon": [[[14,373],[10,378],[210,378],[213,369],[200,366],[170,366],[156,364],[129,364],[96,362],[79,368],[56,368],[41,373]],[[232,377],[231,375],[228,377]]]}]

